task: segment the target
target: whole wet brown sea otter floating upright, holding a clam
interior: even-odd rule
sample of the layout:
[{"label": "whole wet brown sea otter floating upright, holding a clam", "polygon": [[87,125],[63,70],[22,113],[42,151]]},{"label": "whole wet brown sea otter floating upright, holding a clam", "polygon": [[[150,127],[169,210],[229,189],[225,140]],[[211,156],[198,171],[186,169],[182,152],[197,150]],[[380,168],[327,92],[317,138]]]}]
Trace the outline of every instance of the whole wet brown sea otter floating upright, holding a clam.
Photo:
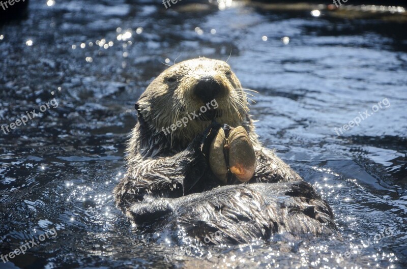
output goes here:
[{"label": "whole wet brown sea otter floating upright, holding a clam", "polygon": [[[330,206],[261,146],[230,66],[200,57],[156,77],[135,105],[117,206],[140,230],[220,231],[243,243],[277,232],[330,233]],[[205,109],[203,109],[205,107]]]}]

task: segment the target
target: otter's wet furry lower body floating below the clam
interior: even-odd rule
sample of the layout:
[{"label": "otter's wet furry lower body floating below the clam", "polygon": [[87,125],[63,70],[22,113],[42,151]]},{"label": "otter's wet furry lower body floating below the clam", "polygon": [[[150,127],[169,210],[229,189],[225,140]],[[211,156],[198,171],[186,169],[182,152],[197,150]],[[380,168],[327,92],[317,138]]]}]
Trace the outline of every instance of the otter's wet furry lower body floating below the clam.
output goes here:
[{"label": "otter's wet furry lower body floating below the clam", "polygon": [[[304,181],[223,186],[139,203],[130,214],[145,232],[182,229],[188,236],[214,244],[267,240],[282,232],[318,235],[336,230],[330,206]],[[208,237],[215,233],[218,236]]]}]

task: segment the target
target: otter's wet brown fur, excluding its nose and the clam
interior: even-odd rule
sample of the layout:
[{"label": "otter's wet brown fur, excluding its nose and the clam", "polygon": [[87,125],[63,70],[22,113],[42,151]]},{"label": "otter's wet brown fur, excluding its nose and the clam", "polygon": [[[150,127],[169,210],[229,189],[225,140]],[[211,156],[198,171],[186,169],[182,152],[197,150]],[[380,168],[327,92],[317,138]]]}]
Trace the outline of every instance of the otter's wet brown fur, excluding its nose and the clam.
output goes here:
[{"label": "otter's wet brown fur, excluding its nose and the clam", "polygon": [[[193,96],[192,89],[200,77],[208,74],[226,88],[226,94],[216,99],[220,111],[216,121],[243,126],[249,133],[257,157],[249,183],[266,183],[265,187],[243,184],[216,188],[221,183],[202,153],[211,121],[195,119],[168,135],[161,131],[205,105]],[[182,223],[196,237],[205,236],[206,231],[223,230],[229,242],[247,242],[261,234],[267,237],[281,231],[317,234],[325,226],[334,228],[329,205],[274,151],[261,146],[241,88],[226,63],[207,58],[174,65],[147,87],[136,104],[138,122],[128,143],[128,171],[114,189],[118,207],[133,224],[140,228],[146,223],[158,225],[159,219],[169,214],[176,219],[170,218],[161,226],[171,221]],[[275,185],[272,188],[277,189],[270,192],[267,183],[287,184]],[[286,199],[280,201],[271,195],[277,192]],[[227,214],[220,214],[219,208]]]}]

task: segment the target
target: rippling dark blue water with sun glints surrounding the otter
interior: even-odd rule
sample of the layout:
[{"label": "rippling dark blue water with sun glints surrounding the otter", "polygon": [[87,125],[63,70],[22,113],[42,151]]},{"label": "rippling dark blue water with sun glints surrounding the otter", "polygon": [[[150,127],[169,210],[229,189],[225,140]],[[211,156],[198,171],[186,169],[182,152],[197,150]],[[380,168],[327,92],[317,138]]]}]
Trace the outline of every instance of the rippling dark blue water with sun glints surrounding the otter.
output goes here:
[{"label": "rippling dark blue water with sun glints surrounding the otter", "polygon": [[[405,13],[189,3],[32,1],[0,28],[1,124],[37,113],[0,135],[0,251],[49,236],[0,268],[406,266]],[[229,58],[258,91],[261,140],[328,200],[342,237],[208,247],[131,232],[112,189],[133,105],[164,63],[197,56]]]}]

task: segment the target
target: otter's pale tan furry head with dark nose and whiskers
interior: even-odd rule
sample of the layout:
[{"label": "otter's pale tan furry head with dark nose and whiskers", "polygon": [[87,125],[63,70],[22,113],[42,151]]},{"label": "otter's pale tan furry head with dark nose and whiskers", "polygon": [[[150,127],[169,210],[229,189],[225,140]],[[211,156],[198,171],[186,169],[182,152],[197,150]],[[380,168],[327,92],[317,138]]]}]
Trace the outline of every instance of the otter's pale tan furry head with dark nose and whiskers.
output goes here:
[{"label": "otter's pale tan furry head with dark nose and whiskers", "polygon": [[183,143],[213,120],[240,126],[249,111],[246,93],[230,66],[208,58],[190,59],[162,72],[141,95],[138,110],[154,132]]}]

